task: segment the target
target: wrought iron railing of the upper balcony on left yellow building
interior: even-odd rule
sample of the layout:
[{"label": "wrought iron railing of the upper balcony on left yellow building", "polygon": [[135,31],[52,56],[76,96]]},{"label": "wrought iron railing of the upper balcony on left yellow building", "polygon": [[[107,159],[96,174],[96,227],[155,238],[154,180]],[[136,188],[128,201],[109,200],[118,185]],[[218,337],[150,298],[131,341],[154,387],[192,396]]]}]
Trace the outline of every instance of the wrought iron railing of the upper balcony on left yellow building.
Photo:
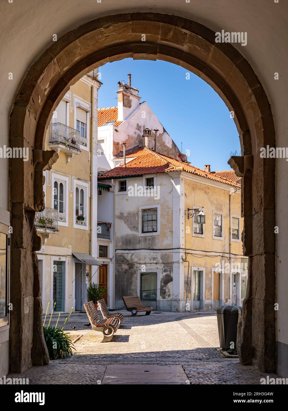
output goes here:
[{"label": "wrought iron railing of the upper balcony on left yellow building", "polygon": [[49,129],[49,143],[64,144],[67,148],[80,150],[80,132],[62,123],[52,123]]}]

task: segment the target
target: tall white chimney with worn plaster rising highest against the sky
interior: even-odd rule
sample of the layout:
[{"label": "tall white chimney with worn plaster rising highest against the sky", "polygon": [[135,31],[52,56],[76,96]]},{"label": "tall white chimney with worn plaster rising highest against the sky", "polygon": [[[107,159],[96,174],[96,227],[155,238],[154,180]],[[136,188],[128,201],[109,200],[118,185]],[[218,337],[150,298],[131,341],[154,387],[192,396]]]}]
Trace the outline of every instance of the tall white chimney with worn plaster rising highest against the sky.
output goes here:
[{"label": "tall white chimney with worn plaster rising highest against the sky", "polygon": [[124,121],[139,106],[141,97],[138,90],[131,86],[131,74],[128,74],[128,84],[118,81],[118,121]]}]

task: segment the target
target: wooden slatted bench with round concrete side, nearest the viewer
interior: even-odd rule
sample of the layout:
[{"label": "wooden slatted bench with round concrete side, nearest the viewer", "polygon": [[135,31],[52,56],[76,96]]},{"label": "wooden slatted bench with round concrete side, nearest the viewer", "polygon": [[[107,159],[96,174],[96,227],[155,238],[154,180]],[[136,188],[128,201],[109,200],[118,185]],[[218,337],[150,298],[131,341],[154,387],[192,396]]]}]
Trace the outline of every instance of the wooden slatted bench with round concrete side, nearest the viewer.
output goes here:
[{"label": "wooden slatted bench with round concrete side, nearest the viewer", "polygon": [[88,315],[92,330],[103,333],[103,339],[101,342],[111,341],[113,335],[120,326],[120,319],[117,317],[109,317],[107,319],[101,320],[92,301],[85,302],[84,308]]}]

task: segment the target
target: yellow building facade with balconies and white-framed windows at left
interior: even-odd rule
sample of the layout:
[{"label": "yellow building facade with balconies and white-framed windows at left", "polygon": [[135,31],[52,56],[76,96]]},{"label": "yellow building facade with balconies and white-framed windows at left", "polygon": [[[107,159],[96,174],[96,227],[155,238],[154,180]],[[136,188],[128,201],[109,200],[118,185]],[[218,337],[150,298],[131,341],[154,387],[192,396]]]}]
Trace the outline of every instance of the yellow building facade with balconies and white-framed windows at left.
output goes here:
[{"label": "yellow building facade with balconies and white-framed windows at left", "polygon": [[[45,210],[36,213],[37,252],[46,312],[82,311],[97,270],[97,98],[93,70],[75,83],[53,113],[45,150],[59,158],[44,172]],[[94,189],[94,198],[93,198]],[[93,234],[94,233],[94,234]],[[96,282],[96,281],[95,281]]]}]

